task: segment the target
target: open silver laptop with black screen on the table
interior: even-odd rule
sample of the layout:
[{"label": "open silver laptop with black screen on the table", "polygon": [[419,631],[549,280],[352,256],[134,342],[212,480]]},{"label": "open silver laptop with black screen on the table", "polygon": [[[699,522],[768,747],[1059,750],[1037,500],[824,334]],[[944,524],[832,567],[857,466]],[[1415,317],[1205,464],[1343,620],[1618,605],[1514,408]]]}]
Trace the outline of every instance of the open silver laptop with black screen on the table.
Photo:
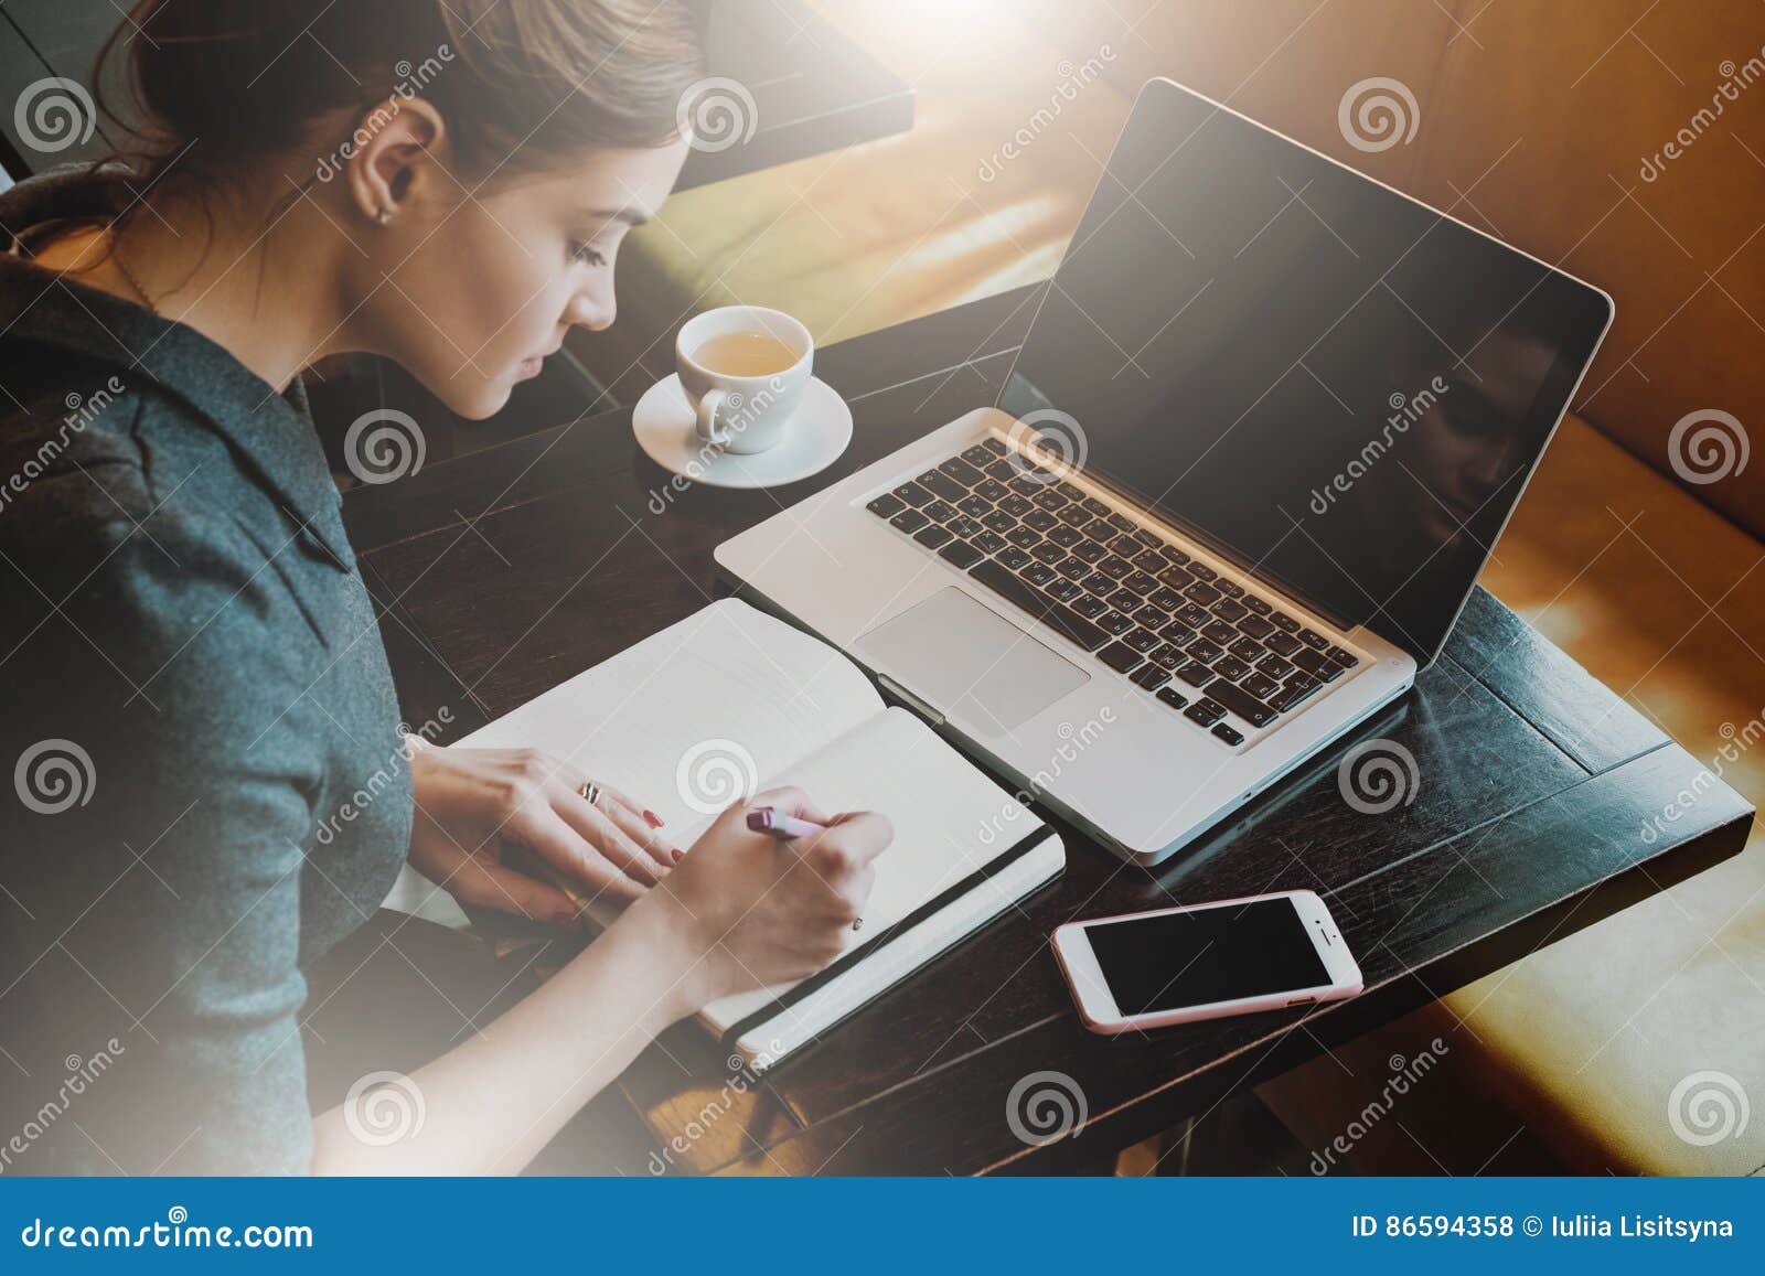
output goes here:
[{"label": "open silver laptop with black screen on the table", "polygon": [[1440,655],[1611,312],[1154,79],[997,401],[717,561],[1153,865]]}]

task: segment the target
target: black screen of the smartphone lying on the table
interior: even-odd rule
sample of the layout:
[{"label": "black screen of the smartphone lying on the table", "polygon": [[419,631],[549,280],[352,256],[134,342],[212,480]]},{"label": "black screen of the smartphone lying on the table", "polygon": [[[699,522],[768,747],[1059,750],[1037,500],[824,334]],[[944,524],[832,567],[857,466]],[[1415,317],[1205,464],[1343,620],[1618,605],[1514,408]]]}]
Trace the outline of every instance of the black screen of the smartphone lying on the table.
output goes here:
[{"label": "black screen of the smartphone lying on the table", "polygon": [[1103,921],[1085,935],[1123,1015],[1331,981],[1290,898]]}]

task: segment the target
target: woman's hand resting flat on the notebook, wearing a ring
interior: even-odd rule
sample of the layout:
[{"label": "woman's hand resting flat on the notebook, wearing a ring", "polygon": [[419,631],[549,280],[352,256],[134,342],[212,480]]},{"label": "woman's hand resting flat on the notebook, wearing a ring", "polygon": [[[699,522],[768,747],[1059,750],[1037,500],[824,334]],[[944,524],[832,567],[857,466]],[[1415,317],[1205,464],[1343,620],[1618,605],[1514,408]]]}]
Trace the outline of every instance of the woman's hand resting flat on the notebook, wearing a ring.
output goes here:
[{"label": "woman's hand resting flat on the notebook, wearing a ring", "polygon": [[462,904],[574,925],[579,907],[565,891],[503,859],[503,844],[512,842],[579,895],[630,904],[681,852],[630,798],[598,785],[590,803],[584,784],[586,775],[531,748],[420,747],[411,755],[411,865]]}]

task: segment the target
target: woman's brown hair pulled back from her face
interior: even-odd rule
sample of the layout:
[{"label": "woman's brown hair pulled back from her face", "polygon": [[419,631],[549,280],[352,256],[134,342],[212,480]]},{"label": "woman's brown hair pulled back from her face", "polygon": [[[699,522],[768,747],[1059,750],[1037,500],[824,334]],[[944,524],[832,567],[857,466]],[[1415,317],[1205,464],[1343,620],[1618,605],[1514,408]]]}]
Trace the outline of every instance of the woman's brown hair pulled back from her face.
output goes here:
[{"label": "woman's brown hair pulled back from her face", "polygon": [[355,106],[355,131],[411,95],[441,111],[473,176],[544,171],[595,146],[665,145],[701,76],[676,0],[141,0],[95,83],[139,141],[118,155],[139,189],[302,145],[318,169],[346,141],[314,136],[323,116]]}]

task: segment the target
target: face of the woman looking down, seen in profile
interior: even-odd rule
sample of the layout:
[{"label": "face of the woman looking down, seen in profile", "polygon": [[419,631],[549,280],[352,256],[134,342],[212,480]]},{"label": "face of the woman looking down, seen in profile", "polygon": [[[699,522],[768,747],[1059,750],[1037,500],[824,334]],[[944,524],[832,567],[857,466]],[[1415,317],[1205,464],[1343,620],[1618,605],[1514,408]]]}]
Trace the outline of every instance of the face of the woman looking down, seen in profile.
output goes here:
[{"label": "face of the woman looking down, seen in profile", "polygon": [[612,323],[620,244],[662,206],[685,157],[687,141],[597,150],[471,196],[429,166],[353,266],[367,344],[461,417],[492,415],[572,327]]}]

